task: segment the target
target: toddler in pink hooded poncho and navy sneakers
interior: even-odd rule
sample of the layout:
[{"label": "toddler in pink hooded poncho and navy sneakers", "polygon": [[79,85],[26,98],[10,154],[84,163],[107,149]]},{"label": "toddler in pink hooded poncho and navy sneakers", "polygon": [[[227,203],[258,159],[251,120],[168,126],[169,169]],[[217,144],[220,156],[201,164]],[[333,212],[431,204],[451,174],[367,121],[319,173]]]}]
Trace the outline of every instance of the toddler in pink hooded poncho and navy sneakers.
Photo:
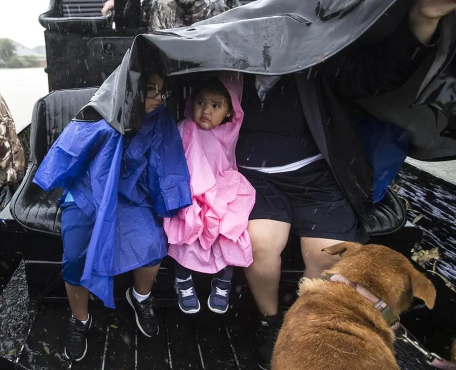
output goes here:
[{"label": "toddler in pink hooded poncho and navy sneakers", "polygon": [[192,271],[215,274],[208,307],[225,313],[233,266],[253,261],[247,233],[255,190],[237,171],[235,149],[244,112],[242,74],[208,77],[193,90],[179,132],[190,172],[192,206],[164,219],[175,289],[186,314],[201,309]]}]

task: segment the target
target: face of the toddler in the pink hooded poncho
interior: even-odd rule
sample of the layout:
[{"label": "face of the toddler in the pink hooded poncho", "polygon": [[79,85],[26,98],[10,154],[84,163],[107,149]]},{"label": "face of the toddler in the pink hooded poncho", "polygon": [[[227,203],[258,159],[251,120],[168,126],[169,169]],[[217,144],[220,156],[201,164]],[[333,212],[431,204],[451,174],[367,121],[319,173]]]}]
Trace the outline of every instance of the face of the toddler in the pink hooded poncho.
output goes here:
[{"label": "face of the toddler in the pink hooded poncho", "polygon": [[203,130],[210,130],[230,117],[230,105],[223,95],[201,91],[193,102],[193,120]]}]

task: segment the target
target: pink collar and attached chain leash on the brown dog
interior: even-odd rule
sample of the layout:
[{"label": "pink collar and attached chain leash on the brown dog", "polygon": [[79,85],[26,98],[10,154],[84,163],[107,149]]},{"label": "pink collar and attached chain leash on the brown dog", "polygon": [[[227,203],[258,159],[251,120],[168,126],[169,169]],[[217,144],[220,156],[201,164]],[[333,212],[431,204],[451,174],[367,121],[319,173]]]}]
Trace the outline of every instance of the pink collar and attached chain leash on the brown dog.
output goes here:
[{"label": "pink collar and attached chain leash on the brown dog", "polygon": [[355,289],[357,293],[370,300],[375,309],[382,314],[384,319],[393,329],[396,335],[396,339],[420,351],[423,354],[426,363],[441,370],[456,370],[456,363],[445,360],[438,354],[429,352],[426,348],[424,348],[423,345],[418,342],[417,339],[413,337],[413,335],[400,323],[399,317],[393,314],[390,307],[383,299],[377,298],[362,285],[348,280],[343,275],[330,274],[328,277],[326,277],[326,280],[346,284]]}]

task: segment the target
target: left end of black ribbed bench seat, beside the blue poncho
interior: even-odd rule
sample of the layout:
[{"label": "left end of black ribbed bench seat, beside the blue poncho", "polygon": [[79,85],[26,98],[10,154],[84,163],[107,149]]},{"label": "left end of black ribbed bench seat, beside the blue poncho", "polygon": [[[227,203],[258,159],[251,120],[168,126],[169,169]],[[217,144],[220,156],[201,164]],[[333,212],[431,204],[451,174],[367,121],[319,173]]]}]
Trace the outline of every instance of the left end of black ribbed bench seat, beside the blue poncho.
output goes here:
[{"label": "left end of black ribbed bench seat, beside the blue poncho", "polygon": [[10,204],[12,216],[26,229],[60,235],[58,199],[62,190],[46,192],[32,180],[49,148],[96,90],[96,87],[57,90],[35,103],[30,130],[29,165]]}]

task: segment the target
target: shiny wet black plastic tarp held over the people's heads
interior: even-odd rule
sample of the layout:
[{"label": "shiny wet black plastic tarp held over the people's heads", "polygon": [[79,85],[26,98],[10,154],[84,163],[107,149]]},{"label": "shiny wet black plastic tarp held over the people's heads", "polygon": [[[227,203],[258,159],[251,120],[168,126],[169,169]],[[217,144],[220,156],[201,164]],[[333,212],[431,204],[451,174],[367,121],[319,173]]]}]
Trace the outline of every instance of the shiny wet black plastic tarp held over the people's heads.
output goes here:
[{"label": "shiny wet black plastic tarp held over the people's heads", "polygon": [[[409,7],[402,0],[257,0],[190,27],[139,35],[78,119],[90,119],[95,110],[122,133],[141,119],[144,66],[151,60],[161,60],[169,76],[217,70],[288,74],[355,42],[381,41]],[[455,19],[451,14],[442,22],[439,51],[413,97],[448,116],[454,115],[456,92]]]}]

